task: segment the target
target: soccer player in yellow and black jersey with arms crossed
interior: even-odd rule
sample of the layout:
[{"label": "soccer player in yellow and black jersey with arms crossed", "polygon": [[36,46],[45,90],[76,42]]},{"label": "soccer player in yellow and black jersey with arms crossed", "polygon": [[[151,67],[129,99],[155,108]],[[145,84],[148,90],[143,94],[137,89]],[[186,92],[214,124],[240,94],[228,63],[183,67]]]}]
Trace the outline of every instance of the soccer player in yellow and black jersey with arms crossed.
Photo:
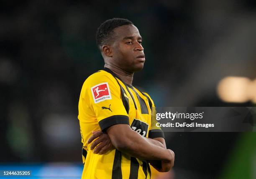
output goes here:
[{"label": "soccer player in yellow and black jersey with arms crossed", "polygon": [[79,98],[82,179],[150,179],[149,163],[169,171],[174,152],[155,125],[154,102],[132,86],[145,62],[138,29],[113,18],[97,29],[96,41],[105,68],[85,80]]}]

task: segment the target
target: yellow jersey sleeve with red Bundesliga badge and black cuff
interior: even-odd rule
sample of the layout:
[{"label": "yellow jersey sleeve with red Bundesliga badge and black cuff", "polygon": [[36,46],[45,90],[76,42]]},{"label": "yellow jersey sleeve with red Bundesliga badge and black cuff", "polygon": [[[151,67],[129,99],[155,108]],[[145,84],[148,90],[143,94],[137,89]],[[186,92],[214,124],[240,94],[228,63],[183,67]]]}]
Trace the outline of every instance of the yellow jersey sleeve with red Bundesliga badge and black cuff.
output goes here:
[{"label": "yellow jersey sleeve with red Bundesliga badge and black cuff", "polygon": [[129,125],[120,86],[115,77],[101,73],[95,73],[87,78],[84,83],[85,93],[82,97],[94,111],[102,131],[115,124]]}]

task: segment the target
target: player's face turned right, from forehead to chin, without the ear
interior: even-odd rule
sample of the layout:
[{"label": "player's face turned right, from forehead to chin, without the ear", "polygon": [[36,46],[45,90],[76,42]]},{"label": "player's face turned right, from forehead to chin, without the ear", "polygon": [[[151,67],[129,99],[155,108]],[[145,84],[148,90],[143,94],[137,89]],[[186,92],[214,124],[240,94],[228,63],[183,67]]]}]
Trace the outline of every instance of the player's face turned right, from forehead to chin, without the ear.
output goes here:
[{"label": "player's face turned right, from forehead to chin, without the ear", "polygon": [[145,55],[138,29],[134,25],[123,25],[115,28],[114,33],[114,42],[111,47],[115,65],[130,73],[141,70]]}]

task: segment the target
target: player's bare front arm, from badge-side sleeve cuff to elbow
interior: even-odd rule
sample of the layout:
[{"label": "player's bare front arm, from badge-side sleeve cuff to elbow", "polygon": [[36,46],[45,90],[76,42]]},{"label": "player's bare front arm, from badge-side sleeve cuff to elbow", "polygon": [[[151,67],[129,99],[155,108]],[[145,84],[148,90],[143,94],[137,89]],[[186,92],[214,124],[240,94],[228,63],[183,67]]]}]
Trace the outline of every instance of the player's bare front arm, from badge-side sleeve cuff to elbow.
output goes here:
[{"label": "player's bare front arm, from badge-side sleeve cuff to elbow", "polygon": [[[141,136],[136,131],[133,131],[127,124],[110,126],[107,133],[113,146],[130,156],[165,162],[174,160],[174,155],[171,150],[156,145],[154,142],[150,142],[151,139]],[[158,143],[158,141],[156,142]]]}]

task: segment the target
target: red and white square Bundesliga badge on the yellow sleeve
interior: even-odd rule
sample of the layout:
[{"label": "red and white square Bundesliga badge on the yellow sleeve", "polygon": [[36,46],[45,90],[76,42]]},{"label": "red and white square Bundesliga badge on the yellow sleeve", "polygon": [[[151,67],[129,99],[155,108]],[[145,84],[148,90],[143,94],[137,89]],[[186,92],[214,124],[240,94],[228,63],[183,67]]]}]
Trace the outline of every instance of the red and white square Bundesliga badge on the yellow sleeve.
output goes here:
[{"label": "red and white square Bundesliga badge on the yellow sleeve", "polygon": [[100,83],[91,88],[92,96],[94,99],[94,103],[100,103],[101,101],[105,101],[111,98],[110,89],[108,86],[108,82]]}]

